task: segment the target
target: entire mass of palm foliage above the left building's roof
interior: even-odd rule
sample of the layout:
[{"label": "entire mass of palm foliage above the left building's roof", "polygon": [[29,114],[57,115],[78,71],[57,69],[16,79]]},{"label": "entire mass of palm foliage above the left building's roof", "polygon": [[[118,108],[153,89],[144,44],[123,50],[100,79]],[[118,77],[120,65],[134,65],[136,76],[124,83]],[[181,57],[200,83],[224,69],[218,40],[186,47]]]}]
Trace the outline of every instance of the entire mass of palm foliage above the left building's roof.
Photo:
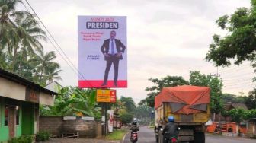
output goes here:
[{"label": "entire mass of palm foliage above the left building's roof", "polygon": [[[22,1],[0,0],[0,68],[45,86],[53,79],[61,79],[60,66],[53,62],[54,52],[42,56],[40,40],[46,40],[46,33],[33,14],[17,10],[19,3]],[[36,62],[47,55],[50,59]]]}]

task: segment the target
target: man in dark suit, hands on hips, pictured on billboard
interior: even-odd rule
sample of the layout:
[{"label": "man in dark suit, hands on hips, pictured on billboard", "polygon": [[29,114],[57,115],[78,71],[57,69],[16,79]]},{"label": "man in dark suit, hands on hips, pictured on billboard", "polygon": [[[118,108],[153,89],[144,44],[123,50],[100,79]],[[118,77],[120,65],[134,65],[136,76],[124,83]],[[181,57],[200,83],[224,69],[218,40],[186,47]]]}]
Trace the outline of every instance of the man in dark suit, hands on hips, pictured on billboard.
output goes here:
[{"label": "man in dark suit, hands on hips, pictured on billboard", "polygon": [[121,43],[121,40],[115,39],[116,31],[112,30],[110,32],[110,39],[104,40],[103,45],[101,46],[101,52],[104,55],[105,61],[107,61],[104,82],[101,86],[107,85],[108,73],[110,71],[111,65],[114,65],[114,86],[117,87],[117,77],[118,77],[118,65],[119,60],[123,59],[122,52],[126,47]]}]

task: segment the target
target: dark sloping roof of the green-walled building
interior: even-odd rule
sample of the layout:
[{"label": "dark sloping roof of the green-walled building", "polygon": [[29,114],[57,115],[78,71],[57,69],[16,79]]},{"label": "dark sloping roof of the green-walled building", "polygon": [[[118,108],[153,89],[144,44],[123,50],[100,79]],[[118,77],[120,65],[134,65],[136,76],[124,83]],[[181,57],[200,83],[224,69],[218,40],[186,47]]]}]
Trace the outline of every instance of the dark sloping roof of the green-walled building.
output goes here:
[{"label": "dark sloping roof of the green-walled building", "polygon": [[14,81],[18,84],[23,84],[26,87],[31,87],[31,88],[37,89],[38,91],[41,91],[45,94],[58,95],[58,93],[56,93],[56,92],[50,91],[44,87],[41,87],[39,84],[35,84],[32,81],[28,81],[25,78],[21,78],[20,76],[15,75],[9,71],[5,71],[2,68],[0,68],[0,77],[8,79],[10,81]]}]

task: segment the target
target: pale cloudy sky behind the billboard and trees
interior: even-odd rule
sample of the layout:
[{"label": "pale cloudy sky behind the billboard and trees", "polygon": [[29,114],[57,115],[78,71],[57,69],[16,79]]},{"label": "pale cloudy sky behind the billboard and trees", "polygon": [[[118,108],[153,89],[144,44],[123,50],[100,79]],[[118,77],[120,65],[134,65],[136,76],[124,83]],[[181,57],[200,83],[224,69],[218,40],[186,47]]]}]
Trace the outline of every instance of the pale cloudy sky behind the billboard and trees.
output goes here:
[{"label": "pale cloudy sky behind the billboard and trees", "polygon": [[[23,0],[27,6],[26,2]],[[78,65],[78,15],[126,16],[128,87],[117,89],[117,96],[145,99],[149,78],[167,75],[189,79],[189,71],[219,75],[223,92],[247,94],[254,87],[249,62],[216,68],[205,56],[213,34],[226,35],[216,20],[237,8],[250,8],[250,0],[27,0],[37,12],[66,56]],[[24,5],[19,5],[24,9]],[[28,6],[27,6],[28,8]],[[30,10],[30,9],[29,9]],[[32,12],[32,11],[30,11]],[[56,51],[48,41],[47,51]],[[62,67],[63,86],[77,86],[78,75],[56,52]]]}]

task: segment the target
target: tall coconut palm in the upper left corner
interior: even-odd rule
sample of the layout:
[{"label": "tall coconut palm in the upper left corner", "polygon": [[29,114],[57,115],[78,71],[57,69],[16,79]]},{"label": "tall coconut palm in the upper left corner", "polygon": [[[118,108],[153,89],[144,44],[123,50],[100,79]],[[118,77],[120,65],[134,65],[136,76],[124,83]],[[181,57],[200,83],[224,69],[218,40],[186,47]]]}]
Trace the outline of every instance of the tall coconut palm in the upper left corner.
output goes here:
[{"label": "tall coconut palm in the upper left corner", "polygon": [[12,55],[13,72],[16,71],[14,65],[19,50],[23,52],[23,56],[27,56],[34,49],[43,49],[39,40],[46,40],[45,32],[40,29],[32,14],[15,10],[19,2],[21,0],[0,0],[0,46],[7,47],[8,54]]}]

